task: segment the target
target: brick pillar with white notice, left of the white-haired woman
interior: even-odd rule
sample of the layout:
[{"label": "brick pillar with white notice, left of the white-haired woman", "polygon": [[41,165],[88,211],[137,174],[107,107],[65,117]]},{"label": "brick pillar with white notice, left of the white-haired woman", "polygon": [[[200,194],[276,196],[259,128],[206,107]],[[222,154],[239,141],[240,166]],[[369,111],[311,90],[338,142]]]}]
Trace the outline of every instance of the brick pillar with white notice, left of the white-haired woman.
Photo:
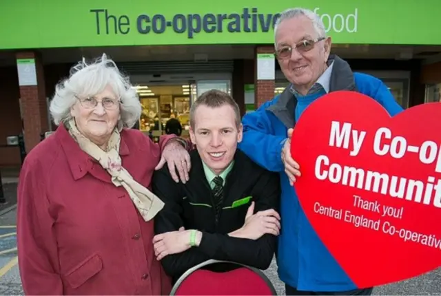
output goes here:
[{"label": "brick pillar with white notice, left of the white-haired woman", "polygon": [[16,59],[25,148],[29,152],[40,142],[41,133],[49,130],[43,64],[36,52],[17,52]]}]

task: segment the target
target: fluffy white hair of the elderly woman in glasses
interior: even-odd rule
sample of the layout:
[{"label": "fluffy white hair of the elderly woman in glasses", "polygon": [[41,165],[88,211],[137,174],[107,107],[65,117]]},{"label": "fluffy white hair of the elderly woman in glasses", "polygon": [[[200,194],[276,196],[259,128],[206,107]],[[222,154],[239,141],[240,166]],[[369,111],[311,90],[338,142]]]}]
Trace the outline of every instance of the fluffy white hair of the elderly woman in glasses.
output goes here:
[{"label": "fluffy white hair of the elderly woman in glasses", "polygon": [[119,97],[121,119],[119,127],[133,127],[141,116],[141,102],[136,89],[130,84],[129,78],[123,75],[106,54],[87,64],[85,59],[70,70],[70,76],[55,87],[55,94],[50,102],[50,114],[54,123],[60,125],[70,120],[70,109],[76,103],[75,96],[94,96],[103,92],[110,85]]}]

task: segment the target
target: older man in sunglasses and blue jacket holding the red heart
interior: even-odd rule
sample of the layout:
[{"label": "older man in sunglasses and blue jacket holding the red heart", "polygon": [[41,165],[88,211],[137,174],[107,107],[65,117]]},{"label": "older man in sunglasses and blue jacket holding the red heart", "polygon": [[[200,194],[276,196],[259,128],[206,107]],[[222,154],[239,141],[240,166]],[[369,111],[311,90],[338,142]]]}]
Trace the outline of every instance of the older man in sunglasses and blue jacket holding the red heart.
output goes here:
[{"label": "older man in sunglasses and blue jacket holding the red heart", "polygon": [[[286,10],[274,32],[276,57],[290,85],[256,112],[244,116],[239,149],[259,165],[280,173],[279,277],[285,282],[287,295],[370,295],[372,288],[357,289],[351,282],[300,207],[291,186],[300,177],[300,168],[289,151],[291,128],[311,102],[342,89],[370,96],[391,116],[402,108],[378,78],[353,73],[347,62],[329,56],[331,39],[314,12],[300,8]],[[311,133],[314,132],[311,127]]]}]

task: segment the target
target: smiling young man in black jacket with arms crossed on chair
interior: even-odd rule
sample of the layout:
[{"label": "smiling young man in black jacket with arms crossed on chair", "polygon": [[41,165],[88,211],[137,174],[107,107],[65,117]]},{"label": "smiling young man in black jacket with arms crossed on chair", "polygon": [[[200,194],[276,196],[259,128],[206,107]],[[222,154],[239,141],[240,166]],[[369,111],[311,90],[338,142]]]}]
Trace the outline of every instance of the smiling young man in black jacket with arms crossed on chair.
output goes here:
[{"label": "smiling young man in black jacket with arms crossed on chair", "polygon": [[209,259],[268,268],[280,231],[279,176],[236,149],[238,105],[225,92],[205,92],[190,110],[189,134],[189,181],[175,182],[167,166],[154,173],[165,202],[155,217],[157,259],[174,282]]}]

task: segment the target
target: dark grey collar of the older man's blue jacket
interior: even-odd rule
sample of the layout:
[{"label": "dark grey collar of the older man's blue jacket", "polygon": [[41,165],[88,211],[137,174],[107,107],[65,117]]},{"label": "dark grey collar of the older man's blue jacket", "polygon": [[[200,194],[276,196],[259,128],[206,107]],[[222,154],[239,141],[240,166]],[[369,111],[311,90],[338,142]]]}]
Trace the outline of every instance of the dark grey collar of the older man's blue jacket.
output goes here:
[{"label": "dark grey collar of the older man's blue jacket", "polygon": [[[329,79],[329,92],[338,90],[356,90],[356,84],[353,79],[351,67],[337,55],[330,55],[327,61],[332,66],[331,78]],[[294,127],[296,124],[295,109],[297,98],[291,92],[291,85],[288,85],[278,97],[273,105],[266,109],[273,113],[282,123],[288,127]]]}]

